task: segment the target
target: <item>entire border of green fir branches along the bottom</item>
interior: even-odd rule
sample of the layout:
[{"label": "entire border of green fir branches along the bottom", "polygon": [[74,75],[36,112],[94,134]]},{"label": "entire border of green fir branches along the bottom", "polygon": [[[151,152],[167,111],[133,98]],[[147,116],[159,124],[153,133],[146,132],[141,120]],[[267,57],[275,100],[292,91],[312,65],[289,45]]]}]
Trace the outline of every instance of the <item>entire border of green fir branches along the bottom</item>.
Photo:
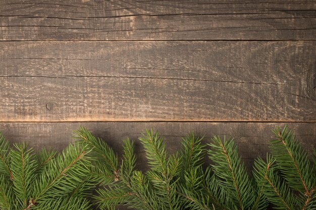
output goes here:
[{"label": "entire border of green fir branches along the bottom", "polygon": [[142,172],[134,141],[123,140],[119,159],[86,128],[73,133],[78,141],[62,153],[35,153],[26,143],[10,148],[0,133],[0,209],[316,209],[316,151],[307,154],[286,126],[273,129],[271,153],[255,160],[252,174],[232,137],[205,145],[190,132],[170,155],[159,133],[145,130]]}]

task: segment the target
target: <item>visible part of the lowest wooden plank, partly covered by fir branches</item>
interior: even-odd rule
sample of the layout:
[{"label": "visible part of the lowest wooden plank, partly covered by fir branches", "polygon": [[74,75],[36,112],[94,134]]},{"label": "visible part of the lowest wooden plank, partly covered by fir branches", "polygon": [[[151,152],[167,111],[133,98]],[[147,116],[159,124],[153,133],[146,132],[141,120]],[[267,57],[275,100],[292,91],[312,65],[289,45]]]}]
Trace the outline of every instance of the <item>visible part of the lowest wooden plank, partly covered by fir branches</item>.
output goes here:
[{"label": "visible part of the lowest wooden plank, partly covered by fir branches", "polygon": [[[311,152],[316,148],[315,123],[287,123],[293,128],[303,148]],[[257,156],[266,157],[269,151],[269,140],[273,138],[271,129],[284,126],[284,123],[251,123],[251,122],[63,122],[63,123],[0,123],[11,143],[26,141],[35,149],[52,147],[57,150],[65,148],[73,142],[72,130],[85,126],[96,136],[102,137],[111,147],[121,154],[122,138],[135,140],[136,153],[139,159],[138,167],[144,168],[146,158],[137,141],[145,128],[153,128],[164,136],[170,153],[180,147],[181,137],[194,131],[197,136],[203,136],[204,143],[214,135],[233,135],[239,147],[240,154],[247,166]]]}]

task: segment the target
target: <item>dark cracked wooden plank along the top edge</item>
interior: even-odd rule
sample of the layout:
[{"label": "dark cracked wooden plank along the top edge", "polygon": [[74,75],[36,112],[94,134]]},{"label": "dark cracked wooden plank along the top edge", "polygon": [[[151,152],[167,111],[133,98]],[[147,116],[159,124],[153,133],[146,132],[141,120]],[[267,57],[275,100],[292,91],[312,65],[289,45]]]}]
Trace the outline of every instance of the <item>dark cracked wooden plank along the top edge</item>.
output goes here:
[{"label": "dark cracked wooden plank along the top edge", "polygon": [[0,40],[314,40],[314,1],[0,1]]}]

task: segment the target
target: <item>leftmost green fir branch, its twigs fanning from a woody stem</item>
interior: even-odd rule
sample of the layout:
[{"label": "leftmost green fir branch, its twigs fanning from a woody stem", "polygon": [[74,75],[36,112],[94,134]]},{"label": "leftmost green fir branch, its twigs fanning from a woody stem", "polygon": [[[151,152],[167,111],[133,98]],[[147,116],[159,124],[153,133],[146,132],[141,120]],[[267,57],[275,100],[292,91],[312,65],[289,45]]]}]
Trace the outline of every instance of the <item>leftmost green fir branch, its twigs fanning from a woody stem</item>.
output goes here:
[{"label": "leftmost green fir branch, its twigs fanning from a woody stem", "polygon": [[[9,151],[10,150],[10,151]],[[69,145],[56,157],[43,149],[36,157],[26,143],[9,143],[0,134],[0,209],[3,210],[87,210],[84,199],[91,183],[84,180],[90,151]]]}]

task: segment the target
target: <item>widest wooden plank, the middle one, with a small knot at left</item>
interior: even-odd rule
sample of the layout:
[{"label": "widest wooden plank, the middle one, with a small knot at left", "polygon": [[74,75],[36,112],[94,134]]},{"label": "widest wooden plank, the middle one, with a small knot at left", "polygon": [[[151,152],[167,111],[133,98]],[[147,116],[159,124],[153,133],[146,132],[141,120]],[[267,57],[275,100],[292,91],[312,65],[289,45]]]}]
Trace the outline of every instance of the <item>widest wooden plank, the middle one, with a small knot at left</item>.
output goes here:
[{"label": "widest wooden plank, the middle one, with a small knot at left", "polygon": [[0,121],[315,121],[315,41],[1,42]]}]

